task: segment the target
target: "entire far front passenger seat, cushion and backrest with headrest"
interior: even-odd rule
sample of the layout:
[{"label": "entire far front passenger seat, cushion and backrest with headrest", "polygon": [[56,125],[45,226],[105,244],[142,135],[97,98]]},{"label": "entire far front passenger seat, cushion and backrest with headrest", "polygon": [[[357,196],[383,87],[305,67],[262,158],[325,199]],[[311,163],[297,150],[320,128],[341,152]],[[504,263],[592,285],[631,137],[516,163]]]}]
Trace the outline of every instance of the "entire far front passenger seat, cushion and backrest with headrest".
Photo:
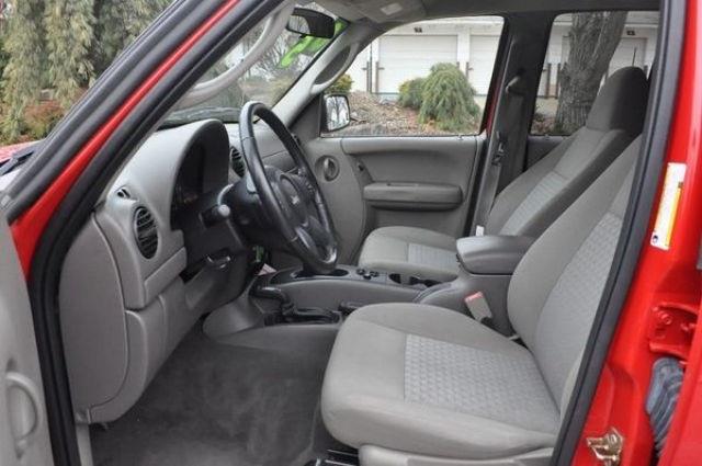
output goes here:
[{"label": "entire far front passenger seat, cushion and backrest with headrest", "polygon": [[[496,197],[485,232],[539,237],[642,130],[648,99],[645,73],[618,70],[600,90],[584,127],[556,146]],[[458,263],[455,238],[411,227],[372,231],[359,265],[450,281]]]}]

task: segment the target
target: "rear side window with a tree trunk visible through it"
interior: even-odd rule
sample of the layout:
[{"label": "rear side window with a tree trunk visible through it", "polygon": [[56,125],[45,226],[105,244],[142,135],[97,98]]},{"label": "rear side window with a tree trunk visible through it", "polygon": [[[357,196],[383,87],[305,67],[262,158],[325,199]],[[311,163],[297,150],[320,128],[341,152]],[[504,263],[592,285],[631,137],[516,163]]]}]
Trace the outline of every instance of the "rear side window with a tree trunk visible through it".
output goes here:
[{"label": "rear side window with a tree trunk visible through it", "polygon": [[557,16],[531,133],[568,136],[584,126],[609,76],[629,66],[648,73],[657,36],[658,12],[598,11]]}]

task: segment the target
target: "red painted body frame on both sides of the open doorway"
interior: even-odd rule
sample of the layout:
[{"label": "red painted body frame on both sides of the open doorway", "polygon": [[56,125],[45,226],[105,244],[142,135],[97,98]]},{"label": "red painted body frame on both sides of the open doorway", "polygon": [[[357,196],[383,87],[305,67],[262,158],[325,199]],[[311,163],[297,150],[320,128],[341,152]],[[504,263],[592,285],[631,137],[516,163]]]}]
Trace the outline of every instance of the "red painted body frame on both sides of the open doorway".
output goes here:
[{"label": "red painted body frame on both sides of the open doorway", "polygon": [[[622,319],[614,336],[598,390],[578,445],[575,464],[598,464],[585,446],[585,437],[601,435],[614,425],[625,437],[622,465],[648,464],[653,448],[644,400],[650,364],[650,310],[665,303],[700,305],[697,259],[702,230],[702,24],[701,0],[689,0],[686,45],[677,111],[668,149],[668,161],[684,162],[688,171],[671,248],[661,251],[645,246]],[[141,99],[168,73],[238,0],[226,1],[122,104],[73,157],[45,193],[12,224],[12,234],[25,274],[36,245],[54,212],[105,141]],[[661,465],[700,464],[702,457],[702,330],[691,343],[687,377]],[[697,416],[691,416],[697,414]]]}]

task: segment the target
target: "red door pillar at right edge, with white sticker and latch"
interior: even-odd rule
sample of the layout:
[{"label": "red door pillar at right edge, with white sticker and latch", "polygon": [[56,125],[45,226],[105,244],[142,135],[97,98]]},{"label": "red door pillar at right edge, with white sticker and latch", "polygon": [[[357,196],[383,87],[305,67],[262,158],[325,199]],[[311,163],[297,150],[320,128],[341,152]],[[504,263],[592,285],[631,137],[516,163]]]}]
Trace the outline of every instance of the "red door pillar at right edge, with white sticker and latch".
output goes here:
[{"label": "red door pillar at right edge, with white sticker and latch", "polygon": [[[689,354],[683,357],[686,378],[659,464],[702,464],[702,329],[688,326],[681,331],[682,326],[666,325],[667,319],[675,320],[676,312],[697,319],[700,308],[697,262],[702,231],[701,3],[702,0],[688,1],[679,90],[666,155],[666,162],[687,164],[670,249],[664,251],[647,241],[642,250],[576,451],[576,465],[602,464],[586,446],[586,439],[601,436],[611,427],[624,437],[622,465],[649,464],[654,445],[644,406],[652,364],[660,356],[680,353]],[[660,191],[661,186],[658,200]],[[660,333],[654,337],[654,329]]]}]

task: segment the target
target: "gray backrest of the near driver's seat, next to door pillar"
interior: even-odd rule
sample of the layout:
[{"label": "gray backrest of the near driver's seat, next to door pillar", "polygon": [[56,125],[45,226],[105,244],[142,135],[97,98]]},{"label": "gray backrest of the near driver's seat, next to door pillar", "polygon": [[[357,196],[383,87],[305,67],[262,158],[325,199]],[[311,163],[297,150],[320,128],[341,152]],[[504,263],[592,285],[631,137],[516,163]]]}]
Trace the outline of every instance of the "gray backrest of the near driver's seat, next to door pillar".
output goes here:
[{"label": "gray backrest of the near driver's seat, next to door pillar", "polygon": [[508,293],[509,317],[563,410],[622,228],[641,138],[534,242]]}]

